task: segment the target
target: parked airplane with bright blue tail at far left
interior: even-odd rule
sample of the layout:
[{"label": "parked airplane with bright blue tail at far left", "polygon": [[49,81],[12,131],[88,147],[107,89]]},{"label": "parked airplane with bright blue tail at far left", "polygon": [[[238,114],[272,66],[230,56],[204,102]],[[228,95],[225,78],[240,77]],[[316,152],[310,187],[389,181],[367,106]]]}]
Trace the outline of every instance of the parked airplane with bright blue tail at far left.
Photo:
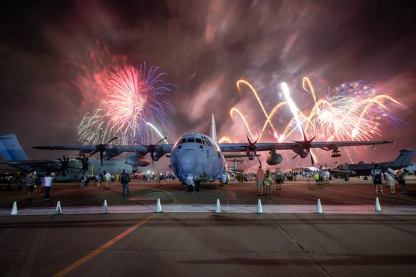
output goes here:
[{"label": "parked airplane with bright blue tail at far left", "polygon": [[106,171],[116,175],[117,172],[122,172],[123,169],[128,174],[137,172],[137,167],[126,164],[124,159],[105,161],[103,166],[101,166],[99,159],[87,159],[86,157],[69,159],[63,156],[63,159],[57,160],[31,160],[28,159],[21,148],[15,134],[0,136],[0,154],[5,160],[3,164],[24,172],[35,170],[41,176],[45,175],[46,172],[55,172],[56,181],[79,180],[82,173],[95,176],[99,172]]}]

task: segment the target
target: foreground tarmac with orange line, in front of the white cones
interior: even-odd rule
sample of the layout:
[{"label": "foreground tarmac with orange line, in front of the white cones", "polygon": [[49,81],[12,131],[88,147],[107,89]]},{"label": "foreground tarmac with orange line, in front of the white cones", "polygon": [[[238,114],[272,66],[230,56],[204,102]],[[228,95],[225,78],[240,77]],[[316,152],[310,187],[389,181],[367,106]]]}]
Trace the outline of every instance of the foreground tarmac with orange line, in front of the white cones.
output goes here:
[{"label": "foreground tarmac with orange line, in front of the white cones", "polygon": [[416,270],[416,217],[409,215],[50,215],[0,217],[0,224],[1,276],[414,276]]}]

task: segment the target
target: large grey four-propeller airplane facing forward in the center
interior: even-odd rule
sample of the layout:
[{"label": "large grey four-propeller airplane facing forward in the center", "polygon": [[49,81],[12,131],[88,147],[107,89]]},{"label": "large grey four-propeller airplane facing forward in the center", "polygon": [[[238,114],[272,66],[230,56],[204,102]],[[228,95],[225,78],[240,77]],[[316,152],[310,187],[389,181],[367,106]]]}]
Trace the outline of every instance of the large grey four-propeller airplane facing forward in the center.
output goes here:
[{"label": "large grey four-propeller airplane facing forward in the center", "polygon": [[[126,163],[132,166],[148,166],[149,159],[144,156],[150,153],[152,163],[158,161],[165,154],[170,153],[171,168],[182,183],[187,185],[189,191],[199,190],[201,183],[219,180],[221,184],[227,184],[227,163],[224,154],[227,152],[245,152],[245,158],[252,161],[257,151],[269,151],[270,156],[266,162],[270,166],[277,165],[283,161],[278,150],[293,150],[301,158],[308,157],[311,148],[321,148],[332,151],[333,155],[339,157],[339,148],[343,146],[379,145],[394,143],[395,141],[329,141],[312,142],[306,139],[303,133],[303,141],[286,143],[257,143],[248,138],[248,143],[217,143],[214,114],[211,116],[211,137],[205,134],[184,134],[175,144],[159,145],[164,139],[153,145],[112,145],[110,142],[99,145],[60,145],[60,146],[34,146],[35,149],[44,150],[78,150],[80,152],[100,152],[101,160],[112,157],[122,152],[135,152],[126,159]],[[114,139],[113,139],[114,140]],[[293,157],[293,158],[295,158]],[[335,157],[335,156],[334,156]],[[313,162],[313,157],[311,157]]]}]

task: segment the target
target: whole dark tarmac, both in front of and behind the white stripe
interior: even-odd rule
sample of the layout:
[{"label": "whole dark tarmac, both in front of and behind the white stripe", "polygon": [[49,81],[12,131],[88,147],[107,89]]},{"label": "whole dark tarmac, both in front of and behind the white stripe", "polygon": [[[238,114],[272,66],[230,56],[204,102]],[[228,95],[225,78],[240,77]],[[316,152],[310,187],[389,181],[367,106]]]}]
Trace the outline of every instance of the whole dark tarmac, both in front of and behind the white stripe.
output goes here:
[{"label": "whole dark tarmac, both in front of and behind the white stripe", "polygon": [[[407,195],[374,195],[371,181],[286,181],[263,204],[415,206]],[[255,205],[253,183],[204,186],[188,193],[177,183],[121,186],[54,185],[52,201],[26,191],[0,193],[1,208],[189,204]],[[399,188],[397,188],[399,193]],[[325,207],[324,206],[324,209]],[[416,215],[377,213],[128,213],[0,217],[1,276],[414,276]]]}]

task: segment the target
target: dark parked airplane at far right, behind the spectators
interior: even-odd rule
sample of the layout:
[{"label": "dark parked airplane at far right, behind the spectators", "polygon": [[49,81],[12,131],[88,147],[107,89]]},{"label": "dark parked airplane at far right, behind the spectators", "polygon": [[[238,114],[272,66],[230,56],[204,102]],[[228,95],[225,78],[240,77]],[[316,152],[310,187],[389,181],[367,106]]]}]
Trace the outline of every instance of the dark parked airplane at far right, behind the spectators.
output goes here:
[{"label": "dark parked airplane at far right, behind the spectators", "polygon": [[[396,157],[394,161],[385,161],[378,163],[381,170],[384,172],[388,166],[391,166],[393,170],[397,168],[407,168],[408,166],[413,166],[411,163],[413,156],[415,155],[416,150],[400,150],[400,154]],[[370,176],[372,170],[374,169],[374,163],[365,163],[360,161],[359,163],[345,163],[340,164],[336,168],[329,169],[331,175],[345,176]]]}]

